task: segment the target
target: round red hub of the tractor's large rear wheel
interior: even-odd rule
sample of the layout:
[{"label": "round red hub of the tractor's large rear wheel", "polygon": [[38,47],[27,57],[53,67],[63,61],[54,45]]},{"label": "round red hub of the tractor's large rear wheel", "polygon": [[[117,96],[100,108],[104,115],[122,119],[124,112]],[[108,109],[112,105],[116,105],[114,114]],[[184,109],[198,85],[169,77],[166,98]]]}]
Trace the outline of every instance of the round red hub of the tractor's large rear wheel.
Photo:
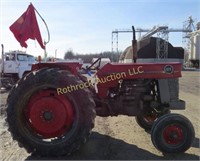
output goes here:
[{"label": "round red hub of the tractor's large rear wheel", "polygon": [[54,90],[33,95],[25,114],[34,131],[44,138],[59,137],[72,126],[74,114],[71,102]]}]

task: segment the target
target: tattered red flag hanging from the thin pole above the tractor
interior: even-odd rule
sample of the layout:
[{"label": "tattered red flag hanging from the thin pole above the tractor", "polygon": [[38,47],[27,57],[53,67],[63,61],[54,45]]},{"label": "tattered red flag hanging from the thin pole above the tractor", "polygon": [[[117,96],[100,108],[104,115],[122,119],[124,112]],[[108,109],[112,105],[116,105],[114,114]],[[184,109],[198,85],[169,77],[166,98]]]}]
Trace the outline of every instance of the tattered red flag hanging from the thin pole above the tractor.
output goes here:
[{"label": "tattered red flag hanging from the thin pole above the tractor", "polygon": [[27,48],[26,40],[30,38],[32,40],[36,39],[41,48],[45,49],[35,16],[35,8],[32,4],[30,4],[26,12],[10,26],[10,30],[22,47]]}]

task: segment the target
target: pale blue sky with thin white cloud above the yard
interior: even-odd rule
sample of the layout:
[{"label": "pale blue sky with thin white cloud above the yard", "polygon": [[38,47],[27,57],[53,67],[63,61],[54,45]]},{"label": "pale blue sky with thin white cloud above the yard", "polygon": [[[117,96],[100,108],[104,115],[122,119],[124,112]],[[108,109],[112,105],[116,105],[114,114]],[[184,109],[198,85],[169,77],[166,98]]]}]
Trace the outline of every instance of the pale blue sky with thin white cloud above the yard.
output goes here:
[{"label": "pale blue sky with thin white cloud above the yard", "polygon": [[[46,21],[51,35],[47,44],[49,56],[63,58],[72,49],[75,53],[111,51],[111,33],[115,29],[151,29],[155,25],[182,28],[192,16],[200,21],[200,0],[32,0]],[[10,25],[26,11],[30,0],[0,0],[0,43],[5,51],[23,50],[34,56],[43,50],[34,40],[21,48],[9,30]],[[43,40],[47,40],[44,23],[37,16]],[[182,33],[170,33],[169,41],[182,46]],[[119,34],[119,50],[131,45],[132,34]]]}]

